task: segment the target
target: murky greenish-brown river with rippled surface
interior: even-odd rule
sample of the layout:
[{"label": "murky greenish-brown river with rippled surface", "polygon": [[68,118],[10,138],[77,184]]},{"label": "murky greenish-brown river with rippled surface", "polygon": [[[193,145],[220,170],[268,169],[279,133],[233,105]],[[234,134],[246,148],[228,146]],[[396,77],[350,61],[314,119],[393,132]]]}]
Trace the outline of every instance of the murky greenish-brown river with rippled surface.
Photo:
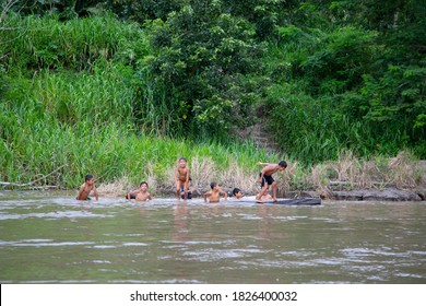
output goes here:
[{"label": "murky greenish-brown river with rippled surface", "polygon": [[426,283],[424,202],[0,193],[1,283]]}]

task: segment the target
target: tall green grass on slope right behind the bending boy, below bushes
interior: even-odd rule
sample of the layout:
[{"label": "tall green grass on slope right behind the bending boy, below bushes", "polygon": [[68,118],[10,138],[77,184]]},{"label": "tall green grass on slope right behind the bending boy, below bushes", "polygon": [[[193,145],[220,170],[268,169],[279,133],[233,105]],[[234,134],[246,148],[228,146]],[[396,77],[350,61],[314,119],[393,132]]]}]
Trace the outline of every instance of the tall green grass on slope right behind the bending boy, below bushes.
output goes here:
[{"label": "tall green grass on slope right behind the bending boy, below bushes", "polygon": [[309,165],[336,160],[346,150],[360,157],[394,156],[399,152],[403,136],[392,133],[392,127],[376,134],[372,126],[335,111],[339,97],[312,97],[299,90],[304,86],[300,81],[269,90],[269,129],[289,156]]}]

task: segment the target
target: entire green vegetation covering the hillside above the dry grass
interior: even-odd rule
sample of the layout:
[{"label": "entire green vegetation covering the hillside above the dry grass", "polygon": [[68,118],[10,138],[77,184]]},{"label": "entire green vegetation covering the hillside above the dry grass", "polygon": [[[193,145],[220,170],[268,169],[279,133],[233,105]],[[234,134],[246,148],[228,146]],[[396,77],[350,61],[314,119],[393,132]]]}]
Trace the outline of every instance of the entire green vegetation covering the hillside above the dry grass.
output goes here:
[{"label": "entire green vegetation covering the hillside above the dry grass", "polygon": [[305,164],[344,150],[426,157],[419,0],[44,0],[0,10],[3,180],[64,164],[52,179],[66,186],[86,172],[139,180],[143,163],[162,176],[179,155],[226,165],[214,151],[250,167],[265,153],[234,136],[258,122]]}]

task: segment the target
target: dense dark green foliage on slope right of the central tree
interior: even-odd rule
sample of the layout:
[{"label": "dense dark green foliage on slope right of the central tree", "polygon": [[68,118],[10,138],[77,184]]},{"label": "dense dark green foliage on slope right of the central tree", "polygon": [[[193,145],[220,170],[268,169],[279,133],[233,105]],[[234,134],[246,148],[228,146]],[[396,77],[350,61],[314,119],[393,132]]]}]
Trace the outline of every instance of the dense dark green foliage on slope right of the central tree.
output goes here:
[{"label": "dense dark green foliage on slope right of the central tree", "polygon": [[335,158],[344,148],[362,156],[411,148],[424,158],[425,8],[329,4],[306,4],[317,22],[282,26],[284,42],[270,48],[270,73],[281,76],[269,95],[270,126],[283,131],[281,145],[301,160]]}]

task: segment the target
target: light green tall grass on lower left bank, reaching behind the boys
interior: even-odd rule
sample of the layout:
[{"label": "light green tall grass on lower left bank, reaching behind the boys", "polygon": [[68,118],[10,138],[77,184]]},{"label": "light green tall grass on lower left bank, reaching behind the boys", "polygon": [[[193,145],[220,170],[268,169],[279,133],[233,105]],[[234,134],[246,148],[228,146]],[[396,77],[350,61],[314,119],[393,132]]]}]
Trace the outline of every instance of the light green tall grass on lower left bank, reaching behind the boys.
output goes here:
[{"label": "light green tall grass on lower left bank, reaching behind the boys", "polygon": [[211,180],[244,186],[257,161],[281,160],[250,143],[150,136],[134,123],[133,102],[121,71],[108,62],[92,72],[43,69],[31,79],[9,76],[0,104],[0,180],[27,183],[54,172],[39,184],[76,188],[92,173],[98,184],[125,181],[130,188],[146,179],[168,192],[176,162],[185,156],[203,190]]}]

